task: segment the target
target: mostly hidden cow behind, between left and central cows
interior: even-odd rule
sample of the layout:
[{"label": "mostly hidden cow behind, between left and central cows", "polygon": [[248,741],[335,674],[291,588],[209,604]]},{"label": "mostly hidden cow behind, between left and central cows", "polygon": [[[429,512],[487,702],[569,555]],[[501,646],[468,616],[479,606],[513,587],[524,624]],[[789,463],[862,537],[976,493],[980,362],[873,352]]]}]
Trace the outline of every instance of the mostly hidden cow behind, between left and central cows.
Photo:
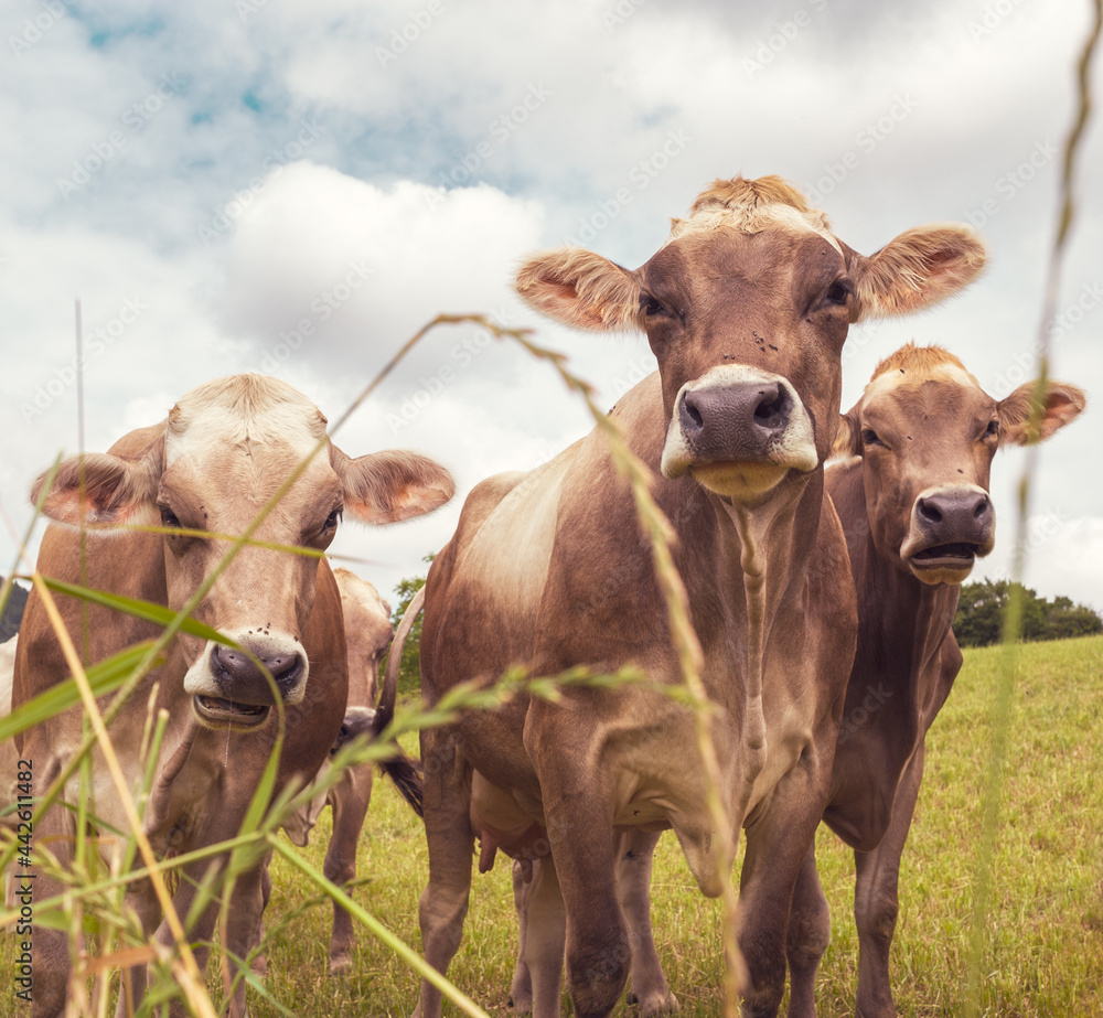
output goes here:
[{"label": "mostly hidden cow behind, between left and central cows", "polygon": [[[341,726],[335,752],[360,730],[375,729],[375,700],[378,696],[379,662],[394,632],[390,625],[390,606],[379,597],[367,580],[349,569],[334,569],[333,578],[341,591],[344,613],[345,639],[349,645],[349,703],[345,720]],[[394,704],[395,690],[385,699]],[[329,762],[322,764],[324,773]],[[361,763],[345,770],[341,780],[328,792],[321,792],[288,817],[283,829],[291,842],[306,847],[310,832],[326,805],[333,810],[333,834],[322,867],[325,876],[339,886],[350,883],[356,876],[356,845],[367,807],[372,802],[372,764]],[[336,902],[333,903],[333,934],[330,939],[330,972],[334,975],[352,966],[354,941],[352,917]]]}]

